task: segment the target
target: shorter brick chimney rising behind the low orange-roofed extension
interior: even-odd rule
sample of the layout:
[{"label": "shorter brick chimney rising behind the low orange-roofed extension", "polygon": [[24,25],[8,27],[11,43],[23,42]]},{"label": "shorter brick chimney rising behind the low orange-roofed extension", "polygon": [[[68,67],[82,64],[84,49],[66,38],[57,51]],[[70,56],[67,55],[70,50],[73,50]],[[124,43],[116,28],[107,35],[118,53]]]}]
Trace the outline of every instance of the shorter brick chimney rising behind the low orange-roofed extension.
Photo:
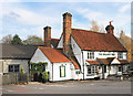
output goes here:
[{"label": "shorter brick chimney rising behind the low orange-roofed extension", "polygon": [[51,47],[51,26],[43,28],[44,30],[44,45]]}]

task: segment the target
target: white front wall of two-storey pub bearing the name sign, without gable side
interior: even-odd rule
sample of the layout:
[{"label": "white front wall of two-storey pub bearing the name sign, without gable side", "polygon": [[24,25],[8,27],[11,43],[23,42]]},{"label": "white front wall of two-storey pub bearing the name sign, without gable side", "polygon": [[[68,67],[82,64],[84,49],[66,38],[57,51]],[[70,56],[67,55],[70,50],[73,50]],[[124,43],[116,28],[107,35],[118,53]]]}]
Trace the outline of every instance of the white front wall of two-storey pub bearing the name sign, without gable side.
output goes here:
[{"label": "white front wall of two-storey pub bearing the name sign, without gable side", "polygon": [[[88,76],[88,67],[86,67],[86,60],[88,58],[88,52],[91,52],[91,51],[83,51],[83,60],[84,60],[84,78],[94,78],[96,77],[98,75],[94,75],[94,76]],[[89,60],[89,61],[96,61],[96,58],[106,58],[106,57],[117,57],[117,53],[119,52],[94,52],[94,58],[93,60]],[[102,55],[101,55],[102,54]],[[110,55],[105,55],[105,54],[110,54]],[[126,52],[123,52],[123,60],[126,60]],[[114,58],[114,61],[112,62],[112,65],[113,64],[120,64],[120,62]],[[115,65],[111,66],[111,71],[110,71],[110,74],[116,74],[117,72],[117,67]],[[102,77],[102,68],[101,68],[101,77]],[[104,74],[104,77],[106,78],[109,75],[109,67],[106,66],[106,73]]]}]

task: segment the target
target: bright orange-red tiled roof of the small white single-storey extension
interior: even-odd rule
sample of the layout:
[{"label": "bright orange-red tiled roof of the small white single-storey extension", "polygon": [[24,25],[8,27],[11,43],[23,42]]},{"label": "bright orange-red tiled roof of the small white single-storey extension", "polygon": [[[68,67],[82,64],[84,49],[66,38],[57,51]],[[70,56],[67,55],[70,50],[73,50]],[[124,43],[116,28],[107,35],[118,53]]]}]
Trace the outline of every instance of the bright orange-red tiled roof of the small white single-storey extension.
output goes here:
[{"label": "bright orange-red tiled roof of the small white single-storey extension", "polygon": [[43,46],[39,46],[39,49],[52,63],[71,62],[66,56],[64,56],[61,50]]}]

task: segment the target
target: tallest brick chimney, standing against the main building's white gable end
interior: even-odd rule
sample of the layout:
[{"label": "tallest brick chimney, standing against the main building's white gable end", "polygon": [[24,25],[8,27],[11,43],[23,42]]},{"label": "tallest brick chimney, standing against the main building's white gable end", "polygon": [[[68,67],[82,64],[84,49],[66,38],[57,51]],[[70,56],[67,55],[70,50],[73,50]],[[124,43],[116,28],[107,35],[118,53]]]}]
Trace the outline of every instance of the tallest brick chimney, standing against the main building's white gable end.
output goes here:
[{"label": "tallest brick chimney, standing against the main building's white gable end", "polygon": [[71,51],[71,13],[63,14],[63,53],[68,56],[70,56]]}]

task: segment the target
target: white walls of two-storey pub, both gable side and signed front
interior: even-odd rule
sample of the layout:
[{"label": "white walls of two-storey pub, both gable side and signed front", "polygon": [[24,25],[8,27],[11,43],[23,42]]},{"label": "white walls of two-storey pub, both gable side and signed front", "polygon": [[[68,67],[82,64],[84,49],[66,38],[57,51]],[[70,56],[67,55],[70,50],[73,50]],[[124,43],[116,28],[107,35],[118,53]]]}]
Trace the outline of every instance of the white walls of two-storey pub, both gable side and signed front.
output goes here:
[{"label": "white walls of two-storey pub, both gable side and signed front", "polygon": [[[88,58],[88,52],[90,51],[81,51],[80,46],[76,44],[76,42],[74,41],[74,39],[71,36],[71,45],[72,45],[72,50],[73,50],[73,53],[78,60],[78,62],[80,63],[81,65],[81,72],[83,73],[83,63],[84,63],[84,77],[85,78],[93,78],[93,77],[96,77],[98,75],[95,76],[86,76],[86,60]],[[83,57],[82,57],[82,52],[83,52]],[[89,60],[89,61],[95,61],[96,58],[106,58],[106,57],[117,57],[117,53],[119,52],[100,52],[100,51],[94,51],[94,58],[93,60]],[[127,60],[127,53],[126,52],[123,52],[123,60]],[[83,61],[82,61],[83,60]],[[117,61],[114,61],[113,63],[117,63]],[[105,74],[105,77],[109,75],[109,70],[106,67],[106,74]],[[101,73],[102,73],[102,68],[101,68]],[[112,74],[116,73],[116,67],[112,67],[112,72],[110,72]]]}]

